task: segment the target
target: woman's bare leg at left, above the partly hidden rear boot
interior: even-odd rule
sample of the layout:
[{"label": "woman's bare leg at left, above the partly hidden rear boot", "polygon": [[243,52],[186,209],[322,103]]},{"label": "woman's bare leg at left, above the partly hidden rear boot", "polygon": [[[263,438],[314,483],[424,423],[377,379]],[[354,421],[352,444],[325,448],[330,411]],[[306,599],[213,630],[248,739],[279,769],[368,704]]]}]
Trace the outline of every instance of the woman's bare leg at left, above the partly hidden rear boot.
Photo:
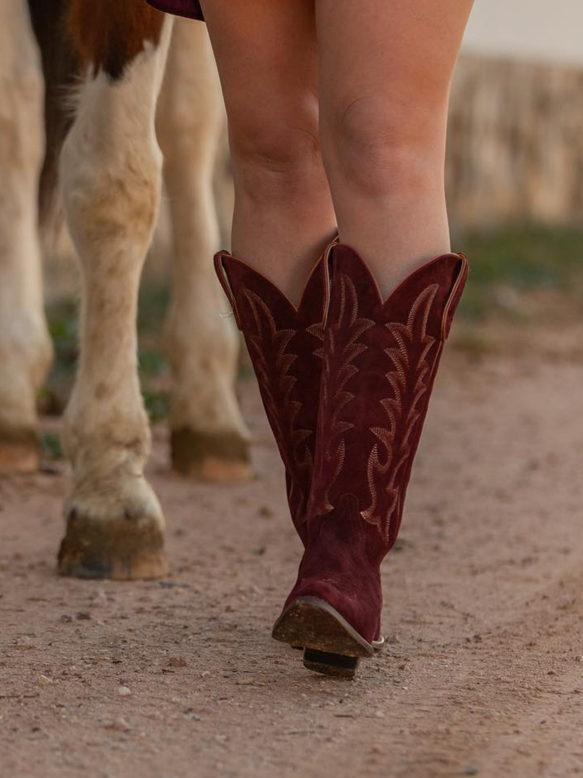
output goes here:
[{"label": "woman's bare leg at left, above the partly hidden rear boot", "polygon": [[229,116],[232,253],[297,302],[335,232],[319,151],[313,0],[202,5]]}]

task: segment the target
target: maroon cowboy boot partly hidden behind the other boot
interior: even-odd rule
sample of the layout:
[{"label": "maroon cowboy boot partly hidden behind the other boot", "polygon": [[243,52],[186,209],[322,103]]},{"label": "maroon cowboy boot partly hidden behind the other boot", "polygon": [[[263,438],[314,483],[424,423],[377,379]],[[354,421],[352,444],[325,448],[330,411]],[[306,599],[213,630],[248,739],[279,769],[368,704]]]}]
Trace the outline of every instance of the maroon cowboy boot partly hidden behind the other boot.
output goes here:
[{"label": "maroon cowboy boot partly hidden behind the other boot", "polygon": [[313,268],[297,309],[245,262],[226,251],[215,256],[218,279],[245,336],[267,419],[285,464],[289,508],[304,545],[328,303],[328,251],[330,247]]}]

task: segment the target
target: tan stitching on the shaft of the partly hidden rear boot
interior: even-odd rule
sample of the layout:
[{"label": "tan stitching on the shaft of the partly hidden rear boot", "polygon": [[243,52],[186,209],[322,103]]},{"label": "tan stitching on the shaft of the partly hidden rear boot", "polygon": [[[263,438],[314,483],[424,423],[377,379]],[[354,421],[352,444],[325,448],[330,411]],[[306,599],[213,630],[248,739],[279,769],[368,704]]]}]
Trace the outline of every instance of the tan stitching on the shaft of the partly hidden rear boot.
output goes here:
[{"label": "tan stitching on the shaft of the partly hidden rear boot", "polygon": [[[309,444],[305,441],[312,437],[314,439],[314,432],[312,429],[299,429],[295,427],[295,419],[297,418],[302,403],[298,400],[292,400],[292,392],[295,385],[298,383],[298,379],[290,374],[292,366],[298,362],[298,355],[288,352],[288,345],[292,341],[295,335],[297,335],[296,329],[282,329],[278,330],[271,310],[267,307],[264,300],[260,298],[256,293],[245,289],[246,300],[250,305],[255,324],[257,327],[257,335],[250,335],[250,341],[253,344],[253,349],[256,352],[256,366],[260,373],[260,385],[263,387],[264,400],[267,410],[267,415],[271,426],[274,429],[278,447],[280,449],[281,459],[285,464],[285,468],[289,478],[288,486],[288,503],[292,508],[294,519],[296,522],[305,521],[305,503],[307,501],[307,494],[302,489],[301,482],[309,483],[310,475],[313,468],[313,456],[312,450],[310,450]],[[265,340],[265,327],[267,321],[267,329],[269,333],[269,340],[275,345],[275,368],[277,371],[278,388],[281,391],[282,401],[278,403],[274,397],[273,387],[271,385],[271,377],[267,360],[265,359],[264,352],[261,349],[261,343]],[[322,335],[319,335],[319,329],[322,331]],[[323,339],[323,325],[320,323],[313,324],[309,328],[310,334],[315,335],[316,338],[321,337]],[[281,424],[281,417],[287,422],[286,429]],[[291,441],[291,452],[284,449],[284,441]],[[304,450],[300,454],[299,448],[302,443],[304,444]],[[292,468],[292,463],[289,461],[291,453],[293,457],[293,464],[295,468]],[[305,478],[294,477],[294,472],[301,473],[306,471]]]}]

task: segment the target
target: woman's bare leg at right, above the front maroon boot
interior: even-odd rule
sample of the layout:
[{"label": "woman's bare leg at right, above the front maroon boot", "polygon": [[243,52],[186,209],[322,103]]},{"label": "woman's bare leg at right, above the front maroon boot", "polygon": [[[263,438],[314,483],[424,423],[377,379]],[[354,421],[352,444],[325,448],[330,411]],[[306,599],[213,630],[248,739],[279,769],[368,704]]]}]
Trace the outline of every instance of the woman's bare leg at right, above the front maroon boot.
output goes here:
[{"label": "woman's bare leg at right, above the front maroon boot", "polygon": [[340,240],[387,296],[449,251],[445,128],[473,0],[316,0],[320,137]]}]

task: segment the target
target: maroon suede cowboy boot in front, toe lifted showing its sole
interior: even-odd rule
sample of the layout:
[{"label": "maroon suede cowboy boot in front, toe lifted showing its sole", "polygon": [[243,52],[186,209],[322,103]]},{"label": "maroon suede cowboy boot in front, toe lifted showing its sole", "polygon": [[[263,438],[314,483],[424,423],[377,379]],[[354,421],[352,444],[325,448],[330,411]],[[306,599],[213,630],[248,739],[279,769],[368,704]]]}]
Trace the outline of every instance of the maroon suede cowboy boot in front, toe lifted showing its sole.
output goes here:
[{"label": "maroon suede cowboy boot in front, toe lifted showing its sole", "polygon": [[298,580],[276,640],[307,668],[354,676],[382,643],[380,564],[396,541],[431,389],[467,277],[463,254],[411,273],[383,303],[350,247],[330,251],[316,454]]}]

